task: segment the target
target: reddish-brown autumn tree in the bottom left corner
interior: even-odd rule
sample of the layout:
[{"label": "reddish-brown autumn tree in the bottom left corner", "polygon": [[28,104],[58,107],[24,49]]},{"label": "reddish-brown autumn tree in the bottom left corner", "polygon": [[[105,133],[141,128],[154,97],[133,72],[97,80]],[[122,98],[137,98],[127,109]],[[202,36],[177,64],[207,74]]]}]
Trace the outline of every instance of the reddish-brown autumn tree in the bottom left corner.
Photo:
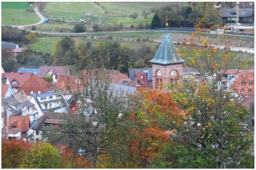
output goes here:
[{"label": "reddish-brown autumn tree in the bottom left corner", "polygon": [[1,167],[4,169],[18,168],[24,155],[31,147],[32,145],[23,139],[3,139],[1,143]]}]

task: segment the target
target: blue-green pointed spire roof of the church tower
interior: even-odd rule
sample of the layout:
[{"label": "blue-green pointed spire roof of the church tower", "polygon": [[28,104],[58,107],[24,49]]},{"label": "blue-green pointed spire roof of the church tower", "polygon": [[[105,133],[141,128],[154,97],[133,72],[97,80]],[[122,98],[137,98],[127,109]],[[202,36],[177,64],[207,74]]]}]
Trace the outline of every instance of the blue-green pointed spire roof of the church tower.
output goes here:
[{"label": "blue-green pointed spire roof of the church tower", "polygon": [[168,34],[168,23],[166,23],[166,34],[157,50],[154,58],[149,62],[159,65],[174,65],[186,62],[179,55],[178,52]]}]

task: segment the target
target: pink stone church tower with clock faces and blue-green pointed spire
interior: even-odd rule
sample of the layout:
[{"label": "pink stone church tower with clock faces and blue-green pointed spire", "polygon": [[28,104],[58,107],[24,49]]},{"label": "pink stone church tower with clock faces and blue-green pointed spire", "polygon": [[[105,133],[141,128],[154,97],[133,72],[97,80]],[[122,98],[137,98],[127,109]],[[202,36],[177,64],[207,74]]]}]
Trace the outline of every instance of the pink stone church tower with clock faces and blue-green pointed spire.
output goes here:
[{"label": "pink stone church tower with clock faces and blue-green pointed spire", "polygon": [[177,80],[183,78],[183,60],[168,34],[166,17],[166,34],[155,54],[149,62],[152,63],[153,89],[159,89],[159,83],[167,85],[169,82],[176,85]]}]

